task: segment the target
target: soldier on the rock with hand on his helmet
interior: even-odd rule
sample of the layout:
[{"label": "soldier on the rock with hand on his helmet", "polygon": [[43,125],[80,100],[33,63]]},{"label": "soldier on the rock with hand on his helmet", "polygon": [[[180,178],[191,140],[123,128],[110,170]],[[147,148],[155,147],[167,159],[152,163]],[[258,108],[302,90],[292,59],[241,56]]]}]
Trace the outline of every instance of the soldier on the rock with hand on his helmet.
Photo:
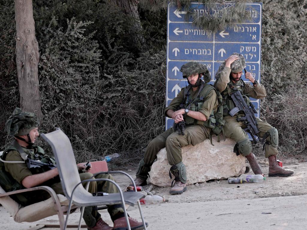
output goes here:
[{"label": "soldier on the rock with hand on his helmet", "polygon": [[[225,135],[237,142],[236,151],[245,156],[251,165],[255,174],[262,174],[261,167],[257,163],[255,155],[252,153],[252,145],[246,132],[243,130],[247,126],[242,121],[237,121],[238,118],[244,117],[244,113],[239,111],[233,117],[229,111],[235,107],[231,98],[231,94],[239,90],[247,105],[250,103],[250,97],[262,99],[266,97],[266,90],[263,85],[255,80],[250,72],[246,72],[245,78],[251,84],[245,83],[242,79],[242,73],[245,68],[245,58],[239,53],[234,53],[229,56],[224,63],[221,64],[216,73],[216,82],[214,87],[219,90],[223,97]],[[278,153],[278,131],[276,128],[269,125],[267,122],[256,118],[258,122],[258,135],[264,143],[265,157],[269,158],[269,177],[289,176],[294,172],[292,170],[283,169],[276,161]]]}]

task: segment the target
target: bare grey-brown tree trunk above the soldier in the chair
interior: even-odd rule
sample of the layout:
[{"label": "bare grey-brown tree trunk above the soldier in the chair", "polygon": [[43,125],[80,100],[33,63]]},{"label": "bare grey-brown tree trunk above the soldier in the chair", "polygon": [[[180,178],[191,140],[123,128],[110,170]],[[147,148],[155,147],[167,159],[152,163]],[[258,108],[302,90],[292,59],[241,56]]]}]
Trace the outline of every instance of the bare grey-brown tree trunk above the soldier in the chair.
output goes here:
[{"label": "bare grey-brown tree trunk above the soldier in the chair", "polygon": [[35,38],[32,0],[14,0],[16,21],[16,64],[20,106],[42,118],[38,84],[38,42]]}]

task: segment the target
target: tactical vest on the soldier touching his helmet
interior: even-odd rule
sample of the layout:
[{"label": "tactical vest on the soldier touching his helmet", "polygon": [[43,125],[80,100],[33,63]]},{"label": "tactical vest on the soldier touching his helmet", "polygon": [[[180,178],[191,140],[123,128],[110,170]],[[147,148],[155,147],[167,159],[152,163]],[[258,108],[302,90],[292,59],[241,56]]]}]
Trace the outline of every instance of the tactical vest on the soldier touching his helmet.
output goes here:
[{"label": "tactical vest on the soldier touching his helmet", "polygon": [[[239,90],[242,94],[242,97],[247,105],[251,102],[249,96],[247,94],[243,94],[243,90],[245,88],[245,82],[240,79],[239,85],[235,85],[232,81],[227,83],[226,89],[221,93],[222,94],[222,104],[223,104],[223,115],[229,115],[229,111],[235,107],[235,103],[231,99],[231,94],[233,89]],[[240,113],[240,112],[239,112]]]}]

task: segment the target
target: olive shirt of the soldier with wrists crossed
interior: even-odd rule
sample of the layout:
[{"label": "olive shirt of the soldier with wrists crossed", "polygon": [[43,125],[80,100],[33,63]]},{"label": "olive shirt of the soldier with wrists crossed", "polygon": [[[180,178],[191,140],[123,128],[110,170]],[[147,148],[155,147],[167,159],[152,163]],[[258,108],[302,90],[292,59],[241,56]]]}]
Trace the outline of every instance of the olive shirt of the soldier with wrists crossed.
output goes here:
[{"label": "olive shirt of the soldier with wrists crossed", "polygon": [[[205,90],[205,89],[203,89]],[[193,91],[192,87],[190,88],[190,96],[192,96],[192,100],[194,98],[196,98],[197,94],[198,94],[198,88],[197,90]],[[165,116],[169,117],[166,112],[169,109],[172,109],[173,111],[176,111],[177,107],[182,104],[182,102],[184,102],[184,100],[186,100],[187,98],[185,98],[185,88],[182,88],[181,91],[179,92],[179,94],[177,94],[177,97],[174,98],[171,103],[169,104],[169,106],[167,106],[165,108]],[[200,113],[203,113],[207,120],[210,117],[210,114],[212,112],[212,110],[214,110],[214,112],[216,112],[217,110],[217,106],[218,106],[218,101],[217,101],[217,95],[215,90],[211,90],[209,92],[209,94],[206,96],[206,98],[204,98],[204,104],[202,105],[202,107],[197,111]]]}]

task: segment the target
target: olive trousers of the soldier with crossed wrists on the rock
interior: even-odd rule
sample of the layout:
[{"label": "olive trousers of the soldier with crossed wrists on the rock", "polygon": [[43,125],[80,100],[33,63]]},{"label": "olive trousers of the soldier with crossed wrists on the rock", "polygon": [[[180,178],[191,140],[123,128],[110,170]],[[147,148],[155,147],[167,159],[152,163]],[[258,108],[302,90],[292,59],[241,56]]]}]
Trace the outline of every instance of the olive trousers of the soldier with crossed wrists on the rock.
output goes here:
[{"label": "olive trousers of the soldier with crossed wrists on the rock", "polygon": [[186,125],[184,135],[169,128],[150,141],[145,154],[144,162],[151,166],[157,158],[160,149],[166,148],[167,159],[170,165],[182,162],[181,148],[187,145],[196,145],[209,138],[209,132],[202,125]]}]

